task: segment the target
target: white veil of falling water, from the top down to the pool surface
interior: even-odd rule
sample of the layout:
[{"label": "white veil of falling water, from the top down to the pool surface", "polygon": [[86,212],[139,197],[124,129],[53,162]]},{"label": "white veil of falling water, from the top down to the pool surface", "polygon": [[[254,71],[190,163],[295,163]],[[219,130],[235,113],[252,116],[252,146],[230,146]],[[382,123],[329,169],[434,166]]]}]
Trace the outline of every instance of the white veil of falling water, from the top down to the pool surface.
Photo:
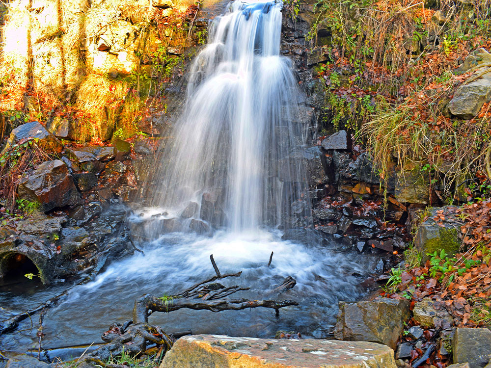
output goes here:
[{"label": "white veil of falling water, from the top down to the pool surface", "polygon": [[153,203],[183,230],[190,218],[232,231],[284,226],[300,200],[305,176],[290,158],[302,143],[300,90],[280,55],[281,19],[281,3],[236,0],[193,61]]}]

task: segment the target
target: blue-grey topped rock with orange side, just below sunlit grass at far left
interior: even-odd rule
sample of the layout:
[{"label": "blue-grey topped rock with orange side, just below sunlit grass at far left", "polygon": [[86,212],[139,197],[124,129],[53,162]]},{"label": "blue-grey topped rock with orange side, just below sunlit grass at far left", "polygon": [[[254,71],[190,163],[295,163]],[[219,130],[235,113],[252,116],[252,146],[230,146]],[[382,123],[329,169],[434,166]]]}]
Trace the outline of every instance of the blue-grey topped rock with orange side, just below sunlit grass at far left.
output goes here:
[{"label": "blue-grey topped rock with orange side, just below sunlit grass at far left", "polygon": [[39,147],[48,152],[60,153],[63,149],[63,145],[52,133],[47,131],[45,127],[39,124],[39,122],[33,121],[13,129],[10,132],[10,136],[4,150],[12,147],[14,144],[17,144],[22,140],[27,140],[29,138],[39,139]]}]

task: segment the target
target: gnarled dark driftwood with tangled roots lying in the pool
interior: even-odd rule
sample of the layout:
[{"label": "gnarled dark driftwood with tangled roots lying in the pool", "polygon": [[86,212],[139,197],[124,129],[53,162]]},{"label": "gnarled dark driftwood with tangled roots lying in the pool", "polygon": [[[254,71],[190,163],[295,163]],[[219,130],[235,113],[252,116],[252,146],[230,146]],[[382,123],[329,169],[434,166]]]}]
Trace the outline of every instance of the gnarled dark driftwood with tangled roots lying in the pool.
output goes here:
[{"label": "gnarled dark driftwood with tangled roots lying in the pool", "polygon": [[[213,260],[213,257],[211,257]],[[147,349],[147,345],[156,344],[165,353],[172,347],[172,344],[180,336],[190,334],[191,331],[166,335],[159,326],[148,324],[148,316],[153,312],[169,313],[182,308],[193,310],[208,310],[212,312],[220,311],[239,311],[247,308],[271,308],[278,311],[280,308],[289,305],[298,305],[292,300],[248,300],[248,299],[226,299],[225,297],[237,291],[248,290],[239,286],[224,287],[216,280],[228,277],[240,277],[241,272],[221,275],[216,264],[214,265],[217,275],[205,281],[197,283],[189,289],[176,295],[156,297],[145,294],[136,299],[133,308],[132,320],[121,324],[112,324],[109,331],[105,332],[102,339],[108,344],[103,345],[88,354],[79,358],[79,361],[93,363],[105,368],[123,368],[123,366],[107,364],[111,356],[119,355],[123,352],[136,356]],[[275,290],[291,289],[295,285],[293,278],[286,278],[285,282]],[[163,355],[163,354],[162,354]]]}]

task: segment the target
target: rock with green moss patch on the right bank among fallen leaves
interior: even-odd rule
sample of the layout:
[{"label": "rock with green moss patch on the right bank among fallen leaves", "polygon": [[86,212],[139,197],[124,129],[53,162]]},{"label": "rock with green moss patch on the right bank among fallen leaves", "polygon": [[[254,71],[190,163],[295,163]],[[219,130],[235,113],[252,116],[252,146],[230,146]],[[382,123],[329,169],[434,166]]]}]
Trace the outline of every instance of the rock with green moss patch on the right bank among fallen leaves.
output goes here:
[{"label": "rock with green moss patch on the right bank among fallen leaves", "polygon": [[433,219],[437,210],[442,209],[432,209],[428,219],[418,226],[414,237],[414,246],[421,252],[424,260],[428,259],[427,254],[440,253],[442,249],[452,256],[457,253],[461,245],[459,230],[453,224],[441,221],[440,224],[443,226],[440,226]]}]

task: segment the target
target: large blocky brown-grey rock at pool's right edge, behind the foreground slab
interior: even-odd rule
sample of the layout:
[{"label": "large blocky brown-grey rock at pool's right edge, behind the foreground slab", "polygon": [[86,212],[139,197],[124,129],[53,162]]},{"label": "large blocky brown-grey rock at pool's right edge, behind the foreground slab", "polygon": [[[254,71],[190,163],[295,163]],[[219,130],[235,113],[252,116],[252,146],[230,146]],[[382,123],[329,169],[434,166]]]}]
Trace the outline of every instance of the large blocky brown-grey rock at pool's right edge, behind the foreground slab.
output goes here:
[{"label": "large blocky brown-grey rock at pool's right edge, behind the foreground slab", "polygon": [[339,303],[334,338],[346,341],[379,342],[395,349],[409,318],[409,302],[378,299],[357,303]]}]

